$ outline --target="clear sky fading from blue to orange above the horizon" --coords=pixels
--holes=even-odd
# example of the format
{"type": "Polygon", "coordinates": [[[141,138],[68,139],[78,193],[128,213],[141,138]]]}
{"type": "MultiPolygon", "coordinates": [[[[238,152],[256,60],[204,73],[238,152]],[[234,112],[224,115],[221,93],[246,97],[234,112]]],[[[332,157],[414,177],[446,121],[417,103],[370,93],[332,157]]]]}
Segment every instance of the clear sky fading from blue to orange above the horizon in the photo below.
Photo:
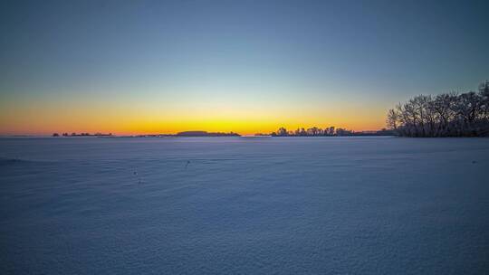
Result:
{"type": "Polygon", "coordinates": [[[2,1],[0,135],[385,128],[489,79],[489,1],[2,1]]]}

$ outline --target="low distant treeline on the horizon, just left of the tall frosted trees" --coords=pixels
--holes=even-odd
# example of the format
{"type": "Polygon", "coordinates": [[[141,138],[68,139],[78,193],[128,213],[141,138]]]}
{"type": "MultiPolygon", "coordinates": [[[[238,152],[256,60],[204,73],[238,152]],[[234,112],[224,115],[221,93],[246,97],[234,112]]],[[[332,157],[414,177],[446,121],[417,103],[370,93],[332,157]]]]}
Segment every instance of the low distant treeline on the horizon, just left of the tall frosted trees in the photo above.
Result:
{"type": "Polygon", "coordinates": [[[362,131],[355,132],[345,128],[297,128],[295,131],[289,131],[286,128],[279,128],[276,132],[270,134],[255,134],[255,136],[272,136],[272,137],[347,137],[347,136],[391,136],[393,132],[387,129],[379,131],[362,131]]]}

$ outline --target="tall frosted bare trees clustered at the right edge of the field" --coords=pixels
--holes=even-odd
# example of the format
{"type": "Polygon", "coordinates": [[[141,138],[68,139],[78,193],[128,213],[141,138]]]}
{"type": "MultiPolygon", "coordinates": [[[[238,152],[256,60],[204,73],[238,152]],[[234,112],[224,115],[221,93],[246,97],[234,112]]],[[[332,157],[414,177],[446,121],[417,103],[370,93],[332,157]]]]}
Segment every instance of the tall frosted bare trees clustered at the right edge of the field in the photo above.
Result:
{"type": "Polygon", "coordinates": [[[388,127],[402,137],[489,136],[489,81],[478,92],[419,95],[388,110],[388,127]]]}

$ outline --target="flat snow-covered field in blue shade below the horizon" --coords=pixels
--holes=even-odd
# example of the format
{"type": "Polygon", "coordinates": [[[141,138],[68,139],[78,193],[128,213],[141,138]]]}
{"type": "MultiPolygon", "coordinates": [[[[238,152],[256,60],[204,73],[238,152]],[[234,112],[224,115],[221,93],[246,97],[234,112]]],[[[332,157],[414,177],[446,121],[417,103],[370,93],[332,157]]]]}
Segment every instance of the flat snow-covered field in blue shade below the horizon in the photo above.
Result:
{"type": "Polygon", "coordinates": [[[1,274],[488,274],[489,139],[0,138],[1,274]]]}

